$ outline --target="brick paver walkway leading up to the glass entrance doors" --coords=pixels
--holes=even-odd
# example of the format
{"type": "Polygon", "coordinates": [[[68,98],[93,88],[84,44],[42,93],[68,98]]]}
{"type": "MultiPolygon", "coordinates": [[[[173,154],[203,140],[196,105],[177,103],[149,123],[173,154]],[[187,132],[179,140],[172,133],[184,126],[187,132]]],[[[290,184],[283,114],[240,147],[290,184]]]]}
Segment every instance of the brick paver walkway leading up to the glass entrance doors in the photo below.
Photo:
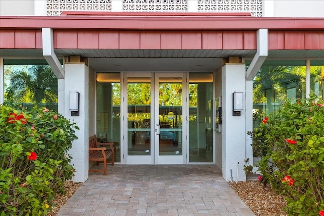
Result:
{"type": "Polygon", "coordinates": [[[57,215],[255,215],[215,165],[107,166],[57,215]]]}

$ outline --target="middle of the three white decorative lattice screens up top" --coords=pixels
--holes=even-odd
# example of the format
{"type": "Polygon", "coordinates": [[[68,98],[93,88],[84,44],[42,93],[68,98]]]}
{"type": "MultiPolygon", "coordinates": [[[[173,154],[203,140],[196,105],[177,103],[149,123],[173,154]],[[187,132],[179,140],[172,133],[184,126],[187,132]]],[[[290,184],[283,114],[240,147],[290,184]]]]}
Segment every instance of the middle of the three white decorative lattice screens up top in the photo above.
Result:
{"type": "Polygon", "coordinates": [[[123,0],[123,11],[187,12],[190,0],[123,0]]]}

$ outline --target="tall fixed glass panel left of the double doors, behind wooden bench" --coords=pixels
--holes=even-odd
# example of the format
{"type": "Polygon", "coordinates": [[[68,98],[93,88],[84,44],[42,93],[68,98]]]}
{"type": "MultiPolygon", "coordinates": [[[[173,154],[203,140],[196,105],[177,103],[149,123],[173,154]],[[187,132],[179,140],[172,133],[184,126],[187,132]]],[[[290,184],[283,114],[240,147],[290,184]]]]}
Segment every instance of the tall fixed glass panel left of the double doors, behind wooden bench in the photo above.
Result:
{"type": "Polygon", "coordinates": [[[114,142],[115,162],[120,162],[120,73],[97,74],[97,137],[114,142]]]}

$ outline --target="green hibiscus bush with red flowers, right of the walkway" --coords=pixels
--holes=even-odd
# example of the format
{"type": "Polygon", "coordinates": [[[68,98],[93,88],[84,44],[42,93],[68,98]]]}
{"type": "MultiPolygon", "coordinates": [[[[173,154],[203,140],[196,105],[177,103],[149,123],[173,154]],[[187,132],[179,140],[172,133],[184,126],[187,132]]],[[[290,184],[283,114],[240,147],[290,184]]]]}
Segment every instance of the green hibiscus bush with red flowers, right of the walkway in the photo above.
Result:
{"type": "Polygon", "coordinates": [[[282,193],[289,215],[324,215],[324,101],[286,102],[253,132],[262,181],[282,193]]]}

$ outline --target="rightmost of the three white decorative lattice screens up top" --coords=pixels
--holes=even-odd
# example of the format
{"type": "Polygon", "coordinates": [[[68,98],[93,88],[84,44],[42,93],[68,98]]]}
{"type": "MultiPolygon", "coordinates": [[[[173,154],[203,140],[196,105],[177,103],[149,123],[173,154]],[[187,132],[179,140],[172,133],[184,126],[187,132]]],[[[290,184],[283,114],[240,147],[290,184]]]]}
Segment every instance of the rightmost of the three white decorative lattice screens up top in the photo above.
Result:
{"type": "Polygon", "coordinates": [[[263,0],[198,0],[199,12],[250,12],[262,17],[263,0]]]}

